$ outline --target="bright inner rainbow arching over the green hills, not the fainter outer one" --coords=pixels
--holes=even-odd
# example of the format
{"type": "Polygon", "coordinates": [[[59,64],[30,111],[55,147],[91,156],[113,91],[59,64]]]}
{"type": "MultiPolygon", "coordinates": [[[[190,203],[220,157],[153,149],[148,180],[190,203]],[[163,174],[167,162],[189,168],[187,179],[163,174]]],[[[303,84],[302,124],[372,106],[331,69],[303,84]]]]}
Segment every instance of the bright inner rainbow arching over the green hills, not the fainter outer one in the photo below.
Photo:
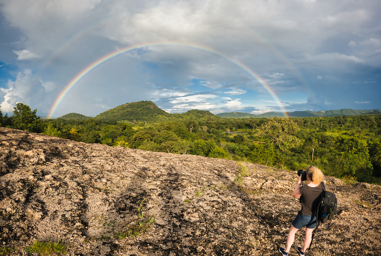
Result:
{"type": "Polygon", "coordinates": [[[54,112],[56,111],[58,105],[62,102],[62,100],[65,98],[66,94],[70,91],[71,88],[74,87],[74,85],[76,85],[85,75],[87,75],[91,70],[93,70],[94,68],[97,68],[99,65],[107,62],[108,60],[111,60],[123,53],[126,53],[128,51],[133,51],[133,50],[136,50],[136,49],[140,49],[140,48],[143,48],[143,47],[150,47],[150,46],[179,46],[179,47],[186,47],[186,48],[191,48],[191,49],[196,49],[196,50],[199,50],[199,51],[206,51],[206,52],[209,52],[209,53],[213,53],[213,54],[216,54],[216,55],[219,55],[227,60],[229,60],[230,62],[234,63],[235,65],[237,65],[238,67],[244,69],[249,75],[251,75],[252,77],[254,77],[261,85],[263,85],[263,87],[265,88],[265,90],[273,97],[274,101],[278,103],[278,105],[282,108],[282,112],[283,112],[283,115],[284,117],[288,117],[288,114],[287,114],[287,111],[284,109],[283,105],[282,105],[282,102],[279,100],[278,96],[275,94],[275,92],[272,90],[272,88],[265,82],[264,79],[262,79],[258,74],[256,74],[254,71],[252,71],[250,68],[248,68],[245,64],[239,62],[238,60],[235,60],[235,59],[232,59],[231,57],[219,52],[219,51],[216,51],[212,48],[209,48],[207,46],[203,46],[203,45],[199,45],[199,44],[182,44],[182,43],[177,43],[177,42],[155,42],[155,43],[149,43],[149,44],[136,44],[136,45],[133,45],[133,46],[128,46],[128,47],[125,47],[125,48],[122,48],[120,50],[117,50],[117,51],[113,51],[113,52],[110,52],[109,54],[107,55],[104,55],[103,57],[99,58],[98,60],[96,60],[95,62],[93,62],[92,64],[90,64],[89,66],[87,66],[86,68],[84,68],[80,73],[78,73],[66,86],[65,88],[60,92],[60,94],[58,95],[58,97],[55,99],[53,105],[50,107],[50,111],[49,111],[49,114],[48,114],[48,119],[50,119],[54,112]]]}

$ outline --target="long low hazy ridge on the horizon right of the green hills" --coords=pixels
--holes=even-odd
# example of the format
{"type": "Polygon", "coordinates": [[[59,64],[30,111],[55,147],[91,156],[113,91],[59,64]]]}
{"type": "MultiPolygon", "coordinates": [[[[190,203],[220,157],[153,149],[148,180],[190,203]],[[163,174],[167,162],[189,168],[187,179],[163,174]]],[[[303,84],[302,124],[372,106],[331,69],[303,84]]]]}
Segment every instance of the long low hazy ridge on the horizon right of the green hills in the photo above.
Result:
{"type": "MultiPolygon", "coordinates": [[[[289,117],[335,117],[335,116],[358,116],[358,115],[378,115],[381,114],[380,109],[365,109],[365,110],[354,110],[354,109],[339,109],[339,110],[327,110],[327,111],[295,111],[288,112],[289,117]]],[[[230,113],[220,113],[216,116],[221,118],[273,118],[273,117],[284,117],[282,112],[267,112],[260,115],[253,115],[242,112],[230,112],[230,113]]]]}

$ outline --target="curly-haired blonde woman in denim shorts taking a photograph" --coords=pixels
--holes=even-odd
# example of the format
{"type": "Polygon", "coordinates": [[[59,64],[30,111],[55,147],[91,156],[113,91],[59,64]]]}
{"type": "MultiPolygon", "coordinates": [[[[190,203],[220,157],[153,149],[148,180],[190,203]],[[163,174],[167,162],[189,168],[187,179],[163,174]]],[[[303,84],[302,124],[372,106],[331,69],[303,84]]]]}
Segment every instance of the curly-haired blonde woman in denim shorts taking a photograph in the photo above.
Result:
{"type": "Polygon", "coordinates": [[[292,196],[294,198],[300,197],[301,210],[299,211],[297,217],[292,222],[290,231],[287,236],[286,248],[279,248],[279,251],[283,256],[288,256],[291,246],[295,240],[295,234],[302,227],[306,227],[306,233],[304,236],[303,247],[298,247],[297,251],[299,256],[304,256],[305,251],[312,240],[312,232],[314,231],[316,225],[315,211],[318,205],[320,193],[323,191],[323,178],[324,174],[316,166],[309,166],[306,170],[307,173],[307,186],[301,186],[302,175],[300,174],[298,184],[295,186],[292,196]]]}

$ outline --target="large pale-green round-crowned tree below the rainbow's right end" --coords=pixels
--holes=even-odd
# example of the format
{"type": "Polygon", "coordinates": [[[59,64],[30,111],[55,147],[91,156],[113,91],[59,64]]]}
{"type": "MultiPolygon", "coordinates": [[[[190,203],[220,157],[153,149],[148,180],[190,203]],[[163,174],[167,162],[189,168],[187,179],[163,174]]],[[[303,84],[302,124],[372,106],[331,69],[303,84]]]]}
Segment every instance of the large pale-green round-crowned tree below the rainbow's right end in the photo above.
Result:
{"type": "Polygon", "coordinates": [[[273,118],[263,125],[265,135],[270,137],[271,143],[282,153],[299,143],[299,139],[295,136],[298,130],[298,124],[288,118],[273,118]]]}

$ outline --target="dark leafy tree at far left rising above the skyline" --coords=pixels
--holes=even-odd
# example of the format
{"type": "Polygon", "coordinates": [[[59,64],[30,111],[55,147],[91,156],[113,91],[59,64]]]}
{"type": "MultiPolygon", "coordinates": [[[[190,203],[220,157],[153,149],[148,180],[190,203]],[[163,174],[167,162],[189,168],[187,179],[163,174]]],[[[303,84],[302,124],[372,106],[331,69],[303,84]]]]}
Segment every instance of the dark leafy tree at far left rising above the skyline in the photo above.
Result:
{"type": "Polygon", "coordinates": [[[16,129],[28,132],[40,132],[41,118],[37,117],[37,109],[33,112],[28,105],[17,103],[13,111],[13,125],[16,129]]]}

